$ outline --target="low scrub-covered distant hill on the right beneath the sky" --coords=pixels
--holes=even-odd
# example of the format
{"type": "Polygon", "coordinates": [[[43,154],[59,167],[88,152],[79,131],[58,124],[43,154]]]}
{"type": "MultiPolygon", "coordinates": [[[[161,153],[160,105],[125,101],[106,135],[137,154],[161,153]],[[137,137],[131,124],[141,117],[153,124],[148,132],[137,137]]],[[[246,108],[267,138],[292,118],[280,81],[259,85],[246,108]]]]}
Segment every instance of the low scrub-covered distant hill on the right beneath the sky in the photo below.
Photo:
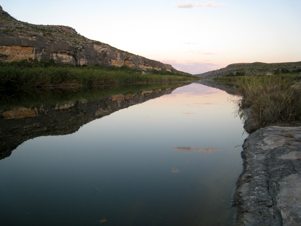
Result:
{"type": "Polygon", "coordinates": [[[268,75],[274,73],[288,73],[288,72],[300,72],[301,61],[299,62],[287,62],[287,63],[235,63],[229,64],[227,67],[223,67],[218,70],[205,72],[202,74],[196,74],[200,78],[215,78],[222,76],[234,76],[236,75],[268,75]]]}

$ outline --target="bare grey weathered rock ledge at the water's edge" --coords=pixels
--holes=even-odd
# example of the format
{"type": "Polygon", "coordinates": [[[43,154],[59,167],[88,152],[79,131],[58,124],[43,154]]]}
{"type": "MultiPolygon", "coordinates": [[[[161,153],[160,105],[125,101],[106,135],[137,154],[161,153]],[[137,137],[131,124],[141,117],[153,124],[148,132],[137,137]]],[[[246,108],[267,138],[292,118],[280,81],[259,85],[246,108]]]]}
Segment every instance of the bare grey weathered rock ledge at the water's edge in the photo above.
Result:
{"type": "Polygon", "coordinates": [[[232,195],[234,225],[301,225],[301,126],[270,126],[245,140],[232,195]]]}

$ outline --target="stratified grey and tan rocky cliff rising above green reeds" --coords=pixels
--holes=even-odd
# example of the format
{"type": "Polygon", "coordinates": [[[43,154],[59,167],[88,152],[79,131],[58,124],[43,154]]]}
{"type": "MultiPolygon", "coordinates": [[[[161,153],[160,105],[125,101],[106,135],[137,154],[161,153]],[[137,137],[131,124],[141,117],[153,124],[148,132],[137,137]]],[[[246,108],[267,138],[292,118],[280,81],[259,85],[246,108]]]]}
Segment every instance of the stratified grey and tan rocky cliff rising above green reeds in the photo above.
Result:
{"type": "MultiPolygon", "coordinates": [[[[0,6],[1,7],[1,6],[0,6]]],[[[0,61],[19,61],[29,57],[73,65],[123,65],[147,70],[178,72],[170,64],[118,50],[90,40],[67,26],[36,25],[18,21],[0,8],[0,61]]],[[[180,72],[181,73],[181,72],[180,72]]]]}

